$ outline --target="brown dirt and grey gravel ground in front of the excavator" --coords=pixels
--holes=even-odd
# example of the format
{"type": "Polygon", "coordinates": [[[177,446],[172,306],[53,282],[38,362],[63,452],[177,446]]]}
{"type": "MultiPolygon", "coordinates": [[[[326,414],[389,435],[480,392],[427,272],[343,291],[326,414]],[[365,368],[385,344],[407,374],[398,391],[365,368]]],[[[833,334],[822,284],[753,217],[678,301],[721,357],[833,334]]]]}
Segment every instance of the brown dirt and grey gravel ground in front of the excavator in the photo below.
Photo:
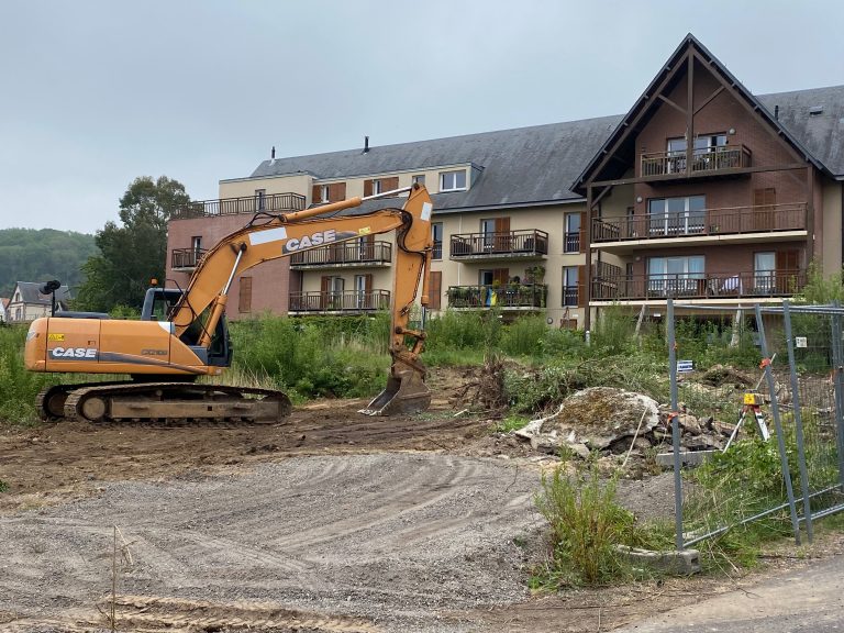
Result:
{"type": "MultiPolygon", "coordinates": [[[[608,631],[753,579],[531,596],[552,458],[455,415],[460,378],[404,420],[325,401],[265,426],[0,424],[0,630],[608,631]]],[[[671,511],[668,476],[620,493],[671,511]]]]}

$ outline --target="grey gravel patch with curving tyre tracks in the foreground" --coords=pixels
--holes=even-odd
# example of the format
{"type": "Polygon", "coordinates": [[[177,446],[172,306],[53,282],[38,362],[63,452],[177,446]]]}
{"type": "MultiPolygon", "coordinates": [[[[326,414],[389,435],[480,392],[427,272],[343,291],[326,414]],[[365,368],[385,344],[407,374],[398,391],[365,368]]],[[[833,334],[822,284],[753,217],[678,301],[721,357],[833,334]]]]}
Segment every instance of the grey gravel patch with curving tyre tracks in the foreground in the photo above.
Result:
{"type": "MultiPolygon", "coordinates": [[[[99,498],[36,518],[0,517],[0,533],[13,533],[16,566],[10,575],[0,569],[0,611],[34,615],[53,606],[60,614],[92,604],[110,585],[114,524],[134,558],[121,570],[126,593],[270,601],[302,613],[391,622],[387,630],[401,630],[397,622],[408,614],[519,599],[521,553],[512,538],[540,519],[531,501],[536,475],[515,473],[496,459],[376,453],[108,485],[99,498]]],[[[195,615],[203,623],[210,617],[195,615]]],[[[168,626],[182,625],[177,618],[168,626]]]]}

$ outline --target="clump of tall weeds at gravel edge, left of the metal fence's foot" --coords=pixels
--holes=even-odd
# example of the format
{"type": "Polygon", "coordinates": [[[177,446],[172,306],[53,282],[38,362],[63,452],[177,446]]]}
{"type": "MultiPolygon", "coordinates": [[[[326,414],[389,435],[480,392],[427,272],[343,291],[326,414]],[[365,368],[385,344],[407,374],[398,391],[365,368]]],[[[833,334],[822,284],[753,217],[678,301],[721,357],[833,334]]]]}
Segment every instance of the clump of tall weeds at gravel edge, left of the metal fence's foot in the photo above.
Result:
{"type": "Polygon", "coordinates": [[[643,524],[617,502],[617,479],[595,465],[568,473],[565,465],[543,475],[536,507],[551,525],[552,554],[534,570],[534,588],[610,585],[633,574],[619,546],[667,549],[670,529],[643,524]]]}

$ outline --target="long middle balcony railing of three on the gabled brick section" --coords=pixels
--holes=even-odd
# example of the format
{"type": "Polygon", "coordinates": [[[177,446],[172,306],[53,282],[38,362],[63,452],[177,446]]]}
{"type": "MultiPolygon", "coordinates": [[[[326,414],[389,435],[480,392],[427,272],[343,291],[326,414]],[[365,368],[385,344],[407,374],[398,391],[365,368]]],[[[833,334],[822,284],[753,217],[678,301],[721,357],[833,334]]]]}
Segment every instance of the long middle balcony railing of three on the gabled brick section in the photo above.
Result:
{"type": "Polygon", "coordinates": [[[795,202],[596,218],[592,220],[592,240],[595,242],[620,242],[690,235],[803,231],[806,227],[807,206],[804,202],[795,202]]]}

